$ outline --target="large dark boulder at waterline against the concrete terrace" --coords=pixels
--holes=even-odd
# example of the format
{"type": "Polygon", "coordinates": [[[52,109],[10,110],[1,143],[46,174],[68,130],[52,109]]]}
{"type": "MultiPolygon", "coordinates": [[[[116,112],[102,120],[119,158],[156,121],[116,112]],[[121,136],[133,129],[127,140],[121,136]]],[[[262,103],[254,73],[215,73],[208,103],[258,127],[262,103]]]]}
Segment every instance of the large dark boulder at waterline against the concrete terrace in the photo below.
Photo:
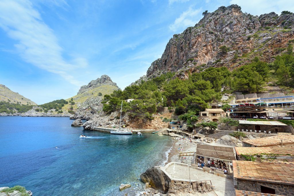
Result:
{"type": "Polygon", "coordinates": [[[148,168],[140,175],[140,178],[144,183],[149,183],[152,188],[159,192],[166,193],[168,191],[169,178],[159,166],[148,168]]]}

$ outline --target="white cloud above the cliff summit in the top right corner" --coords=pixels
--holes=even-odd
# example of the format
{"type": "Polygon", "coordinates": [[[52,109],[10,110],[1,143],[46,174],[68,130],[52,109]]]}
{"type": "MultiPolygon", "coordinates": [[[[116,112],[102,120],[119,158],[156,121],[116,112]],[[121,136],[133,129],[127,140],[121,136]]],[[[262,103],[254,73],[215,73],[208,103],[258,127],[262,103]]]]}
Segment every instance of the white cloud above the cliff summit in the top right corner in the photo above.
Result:
{"type": "Polygon", "coordinates": [[[230,4],[238,4],[241,6],[243,12],[250,13],[252,15],[260,15],[264,13],[275,12],[280,15],[281,11],[293,11],[294,1],[289,0],[231,0],[230,4]]]}

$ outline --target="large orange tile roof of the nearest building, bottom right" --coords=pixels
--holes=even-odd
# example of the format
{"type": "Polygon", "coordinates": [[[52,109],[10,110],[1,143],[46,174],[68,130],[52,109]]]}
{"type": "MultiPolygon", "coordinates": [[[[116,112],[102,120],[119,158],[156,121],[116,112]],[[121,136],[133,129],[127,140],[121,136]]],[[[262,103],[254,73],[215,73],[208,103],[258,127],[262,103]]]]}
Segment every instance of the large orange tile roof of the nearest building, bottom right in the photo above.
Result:
{"type": "Polygon", "coordinates": [[[233,160],[234,178],[294,185],[294,165],[233,160]]]}

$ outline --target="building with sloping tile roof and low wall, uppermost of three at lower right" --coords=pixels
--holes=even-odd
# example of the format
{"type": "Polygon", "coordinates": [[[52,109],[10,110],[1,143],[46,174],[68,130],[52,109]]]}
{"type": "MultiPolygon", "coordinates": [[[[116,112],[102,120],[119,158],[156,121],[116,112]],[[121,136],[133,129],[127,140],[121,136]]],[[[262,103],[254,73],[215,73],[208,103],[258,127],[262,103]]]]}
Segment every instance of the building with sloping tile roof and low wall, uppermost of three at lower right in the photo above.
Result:
{"type": "Polygon", "coordinates": [[[265,146],[294,146],[293,135],[276,135],[271,137],[264,137],[258,139],[251,139],[242,141],[243,147],[265,147],[265,146]]]}

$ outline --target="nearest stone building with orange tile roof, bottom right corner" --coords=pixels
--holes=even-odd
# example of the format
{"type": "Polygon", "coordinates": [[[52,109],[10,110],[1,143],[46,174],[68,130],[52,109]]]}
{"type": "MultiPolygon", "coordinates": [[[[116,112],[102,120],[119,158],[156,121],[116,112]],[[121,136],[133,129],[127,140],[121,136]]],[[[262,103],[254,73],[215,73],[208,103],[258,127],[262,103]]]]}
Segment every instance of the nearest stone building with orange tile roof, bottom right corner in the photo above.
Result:
{"type": "Polygon", "coordinates": [[[293,164],[233,160],[233,171],[238,190],[293,196],[293,164]]]}

